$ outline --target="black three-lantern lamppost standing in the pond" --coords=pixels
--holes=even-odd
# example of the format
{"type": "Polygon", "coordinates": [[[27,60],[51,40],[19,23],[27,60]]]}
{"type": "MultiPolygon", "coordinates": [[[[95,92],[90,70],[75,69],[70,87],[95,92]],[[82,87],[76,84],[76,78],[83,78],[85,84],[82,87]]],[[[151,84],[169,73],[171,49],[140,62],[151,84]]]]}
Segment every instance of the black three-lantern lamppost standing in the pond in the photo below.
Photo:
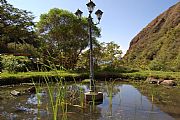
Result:
{"type": "MultiPolygon", "coordinates": [[[[95,99],[97,98],[97,100],[99,99],[99,96],[101,96],[103,98],[103,94],[100,92],[96,92],[95,91],[95,84],[94,84],[94,65],[93,65],[93,45],[92,45],[92,25],[97,25],[100,23],[101,17],[103,12],[101,10],[97,10],[95,12],[97,19],[98,19],[98,23],[94,24],[93,22],[93,18],[92,18],[92,12],[95,8],[95,3],[93,1],[90,0],[89,3],[86,4],[87,8],[89,10],[89,16],[88,16],[88,23],[89,23],[89,44],[90,44],[90,91],[88,93],[85,93],[85,97],[86,100],[92,100],[92,94],[93,96],[95,96],[95,99]]],[[[75,12],[75,15],[81,19],[83,12],[81,10],[77,10],[75,12]]]]}

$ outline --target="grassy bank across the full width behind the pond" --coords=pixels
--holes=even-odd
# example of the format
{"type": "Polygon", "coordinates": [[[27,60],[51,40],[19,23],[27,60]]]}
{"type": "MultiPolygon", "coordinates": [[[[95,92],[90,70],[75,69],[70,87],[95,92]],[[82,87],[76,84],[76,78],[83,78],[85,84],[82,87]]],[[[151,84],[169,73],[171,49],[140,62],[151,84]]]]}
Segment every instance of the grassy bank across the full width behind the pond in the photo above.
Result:
{"type": "MultiPolygon", "coordinates": [[[[63,77],[65,80],[83,80],[89,78],[88,73],[75,73],[69,71],[50,71],[50,72],[19,72],[1,73],[0,85],[16,84],[22,82],[32,82],[43,80],[43,77],[57,78],[63,77]]],[[[154,77],[159,79],[174,79],[180,81],[180,72],[162,72],[162,71],[139,71],[132,73],[115,73],[115,72],[96,72],[96,80],[108,80],[110,78],[122,78],[129,80],[145,80],[147,77],[154,77]]]]}

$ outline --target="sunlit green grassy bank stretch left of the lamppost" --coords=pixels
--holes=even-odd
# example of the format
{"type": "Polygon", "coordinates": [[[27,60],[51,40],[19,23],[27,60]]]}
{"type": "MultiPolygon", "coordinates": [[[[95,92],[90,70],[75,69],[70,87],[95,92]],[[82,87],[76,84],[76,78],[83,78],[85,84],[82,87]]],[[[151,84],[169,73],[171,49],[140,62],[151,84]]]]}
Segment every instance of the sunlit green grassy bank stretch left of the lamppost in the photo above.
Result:
{"type": "Polygon", "coordinates": [[[65,80],[78,80],[83,75],[72,73],[68,71],[49,71],[49,72],[19,72],[13,73],[1,73],[0,74],[0,86],[11,85],[19,83],[32,83],[32,82],[44,82],[44,78],[49,78],[51,81],[57,81],[57,78],[64,78],[65,80]]]}

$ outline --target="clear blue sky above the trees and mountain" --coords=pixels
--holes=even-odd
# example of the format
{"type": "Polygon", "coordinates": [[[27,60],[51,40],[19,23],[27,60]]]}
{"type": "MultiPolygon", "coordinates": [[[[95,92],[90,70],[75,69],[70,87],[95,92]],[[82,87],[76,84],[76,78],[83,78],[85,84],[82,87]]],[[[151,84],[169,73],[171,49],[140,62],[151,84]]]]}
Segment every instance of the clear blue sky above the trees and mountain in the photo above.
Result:
{"type": "MultiPolygon", "coordinates": [[[[78,8],[88,16],[86,4],[89,0],[7,0],[17,8],[33,12],[35,21],[51,8],[75,12],[78,8]]],[[[101,42],[114,41],[124,54],[129,43],[149,22],[179,0],[93,0],[97,9],[104,14],[98,27],[101,28],[101,42]]],[[[96,21],[96,16],[94,21],[96,21]]]]}

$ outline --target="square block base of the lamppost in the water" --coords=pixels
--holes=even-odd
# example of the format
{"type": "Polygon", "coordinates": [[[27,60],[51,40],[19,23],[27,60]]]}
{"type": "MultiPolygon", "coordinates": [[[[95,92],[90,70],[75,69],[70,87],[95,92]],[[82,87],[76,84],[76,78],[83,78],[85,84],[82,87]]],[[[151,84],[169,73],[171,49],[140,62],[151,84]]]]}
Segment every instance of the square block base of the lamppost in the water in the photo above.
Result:
{"type": "Polygon", "coordinates": [[[86,101],[103,101],[103,93],[102,92],[87,92],[84,94],[86,101]]]}

